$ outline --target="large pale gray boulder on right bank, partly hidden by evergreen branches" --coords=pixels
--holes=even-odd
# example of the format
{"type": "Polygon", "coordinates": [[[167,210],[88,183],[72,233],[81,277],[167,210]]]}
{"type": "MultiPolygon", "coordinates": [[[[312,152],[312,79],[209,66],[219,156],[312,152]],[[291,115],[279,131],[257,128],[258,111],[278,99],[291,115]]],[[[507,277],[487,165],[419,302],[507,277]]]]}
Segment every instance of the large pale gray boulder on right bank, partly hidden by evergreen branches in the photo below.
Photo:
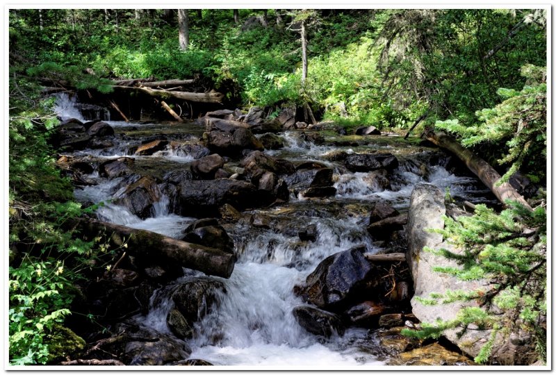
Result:
{"type": "MultiPolygon", "coordinates": [[[[444,194],[436,186],[428,183],[419,183],[411,193],[411,203],[407,222],[407,238],[409,250],[407,262],[414,280],[414,297],[411,307],[414,315],[421,322],[433,323],[436,319],[445,321],[455,319],[463,306],[477,306],[475,302],[448,303],[436,305],[423,305],[417,301],[418,297],[428,298],[432,292],[445,293],[448,290],[484,290],[484,283],[476,281],[459,281],[453,276],[434,272],[433,267],[457,267],[453,260],[423,251],[423,247],[433,249],[445,248],[452,252],[460,253],[452,245],[443,242],[442,235],[431,233],[429,229],[442,229],[444,227],[443,215],[445,214],[444,194]]],[[[459,337],[460,329],[450,329],[444,332],[448,340],[456,344],[468,356],[475,357],[484,343],[489,340],[491,330],[468,330],[459,337]]],[[[520,334],[521,335],[521,334],[520,334]]],[[[523,340],[526,343],[527,340],[523,340]]],[[[497,336],[491,355],[491,360],[501,365],[528,364],[530,363],[531,350],[525,349],[520,340],[509,340],[497,336]]],[[[534,360],[533,360],[534,361],[534,360]]]]}

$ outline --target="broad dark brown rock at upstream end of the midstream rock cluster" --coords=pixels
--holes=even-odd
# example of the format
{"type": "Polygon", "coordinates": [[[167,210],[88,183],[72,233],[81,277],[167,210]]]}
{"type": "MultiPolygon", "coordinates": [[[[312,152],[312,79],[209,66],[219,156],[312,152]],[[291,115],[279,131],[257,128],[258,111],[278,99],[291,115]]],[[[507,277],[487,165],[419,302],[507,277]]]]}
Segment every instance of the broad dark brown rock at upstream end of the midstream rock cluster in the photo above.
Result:
{"type": "Polygon", "coordinates": [[[234,128],[231,131],[204,133],[203,139],[211,151],[221,155],[235,156],[244,149],[263,150],[261,141],[249,129],[234,128]]]}

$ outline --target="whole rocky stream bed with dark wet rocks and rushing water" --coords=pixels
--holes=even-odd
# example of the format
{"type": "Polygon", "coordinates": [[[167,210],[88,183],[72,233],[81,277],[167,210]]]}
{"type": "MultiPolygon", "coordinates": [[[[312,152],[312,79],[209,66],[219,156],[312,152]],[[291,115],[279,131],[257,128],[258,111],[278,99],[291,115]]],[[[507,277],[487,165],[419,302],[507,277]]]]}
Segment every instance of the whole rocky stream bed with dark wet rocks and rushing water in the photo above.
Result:
{"type": "MultiPolygon", "coordinates": [[[[90,281],[75,306],[108,328],[74,322],[87,342],[81,360],[473,365],[445,340],[400,335],[420,323],[411,258],[369,260],[408,253],[410,235],[425,233],[411,213],[416,186],[441,206],[446,189],[454,207],[498,205],[443,151],[393,133],[341,135],[329,124],[296,126],[256,111],[126,123],[83,118],[67,97],[58,106],[58,165],[72,177],[76,199],[104,202],[94,218],[217,249],[233,268],[220,277],[157,249],[122,249],[127,255],[90,281]]],[[[442,213],[420,215],[431,212],[442,213]]]]}

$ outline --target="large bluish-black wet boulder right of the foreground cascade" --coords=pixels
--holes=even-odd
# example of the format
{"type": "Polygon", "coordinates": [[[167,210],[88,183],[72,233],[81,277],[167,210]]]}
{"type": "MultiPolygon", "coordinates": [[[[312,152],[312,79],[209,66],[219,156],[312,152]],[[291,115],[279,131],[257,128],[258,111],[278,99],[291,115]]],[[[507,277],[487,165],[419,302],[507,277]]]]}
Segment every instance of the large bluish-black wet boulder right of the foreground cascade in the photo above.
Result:
{"type": "Polygon", "coordinates": [[[302,297],[325,310],[342,310],[365,286],[367,279],[376,273],[363,252],[365,247],[335,253],[307,276],[302,286],[302,297]]]}

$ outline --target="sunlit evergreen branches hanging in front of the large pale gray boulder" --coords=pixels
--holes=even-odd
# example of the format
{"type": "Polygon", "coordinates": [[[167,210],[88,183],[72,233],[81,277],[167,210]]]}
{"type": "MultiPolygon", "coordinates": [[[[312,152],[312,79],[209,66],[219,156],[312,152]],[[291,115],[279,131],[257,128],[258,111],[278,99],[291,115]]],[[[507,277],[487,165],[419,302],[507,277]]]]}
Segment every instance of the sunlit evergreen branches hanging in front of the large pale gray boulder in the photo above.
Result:
{"type": "Polygon", "coordinates": [[[437,338],[445,329],[470,326],[493,329],[491,337],[475,358],[489,360],[496,334],[509,335],[524,329],[537,340],[539,357],[546,360],[546,210],[539,206],[530,211],[519,203],[497,214],[483,204],[475,215],[457,219],[445,217],[445,228],[438,232],[461,253],[448,249],[427,249],[455,260],[457,267],[436,267],[462,281],[486,281],[486,289],[450,290],[432,294],[421,303],[477,301],[478,306],[461,308],[450,321],[423,324],[421,331],[405,330],[417,338],[437,338]]]}

